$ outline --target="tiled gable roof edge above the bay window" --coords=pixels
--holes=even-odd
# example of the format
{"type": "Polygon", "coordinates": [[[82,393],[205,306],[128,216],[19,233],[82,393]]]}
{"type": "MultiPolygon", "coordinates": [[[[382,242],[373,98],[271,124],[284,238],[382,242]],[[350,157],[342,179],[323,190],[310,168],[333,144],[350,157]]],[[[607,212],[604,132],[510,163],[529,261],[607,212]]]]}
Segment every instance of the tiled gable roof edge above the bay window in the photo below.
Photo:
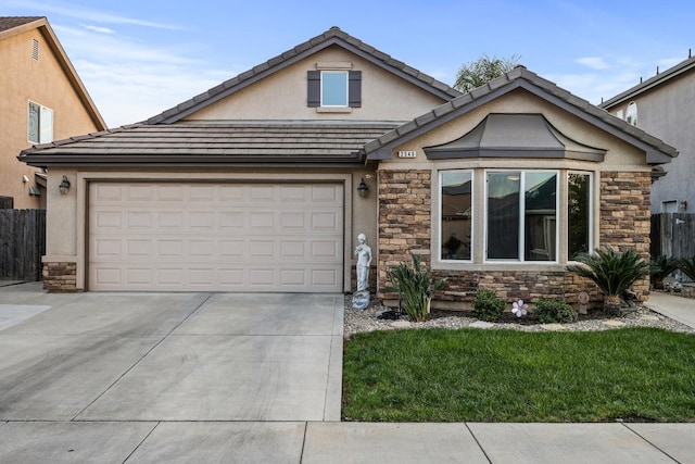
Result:
{"type": "Polygon", "coordinates": [[[646,161],[649,164],[668,163],[672,158],[678,156],[675,148],[591,104],[589,101],[573,96],[523,66],[517,66],[501,77],[471,90],[469,93],[457,97],[397,129],[384,134],[365,146],[365,154],[368,160],[390,160],[392,159],[392,150],[396,147],[518,88],[522,88],[593,124],[597,128],[644,150],[646,152],[646,161]]]}

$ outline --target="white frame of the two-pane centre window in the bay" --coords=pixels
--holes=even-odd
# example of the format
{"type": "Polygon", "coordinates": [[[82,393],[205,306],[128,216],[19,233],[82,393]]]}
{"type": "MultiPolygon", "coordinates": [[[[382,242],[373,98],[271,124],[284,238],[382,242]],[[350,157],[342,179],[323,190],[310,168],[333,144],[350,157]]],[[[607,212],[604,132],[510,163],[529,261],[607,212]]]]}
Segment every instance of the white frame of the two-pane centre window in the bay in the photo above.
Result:
{"type": "Polygon", "coordinates": [[[559,209],[559,198],[561,197],[561,189],[559,188],[560,181],[560,171],[559,170],[522,170],[522,168],[494,168],[494,170],[484,170],[484,188],[483,188],[483,264],[530,264],[533,266],[538,265],[554,265],[559,264],[560,256],[560,209],[559,209]],[[488,174],[490,173],[508,173],[508,172],[518,172],[520,175],[519,179],[519,236],[517,237],[517,251],[519,253],[519,258],[516,260],[508,259],[500,259],[500,260],[491,260],[488,258],[488,174]],[[523,200],[523,192],[526,191],[526,173],[555,173],[555,260],[553,261],[526,261],[525,260],[525,250],[523,250],[523,233],[526,230],[526,202],[523,200]]]}

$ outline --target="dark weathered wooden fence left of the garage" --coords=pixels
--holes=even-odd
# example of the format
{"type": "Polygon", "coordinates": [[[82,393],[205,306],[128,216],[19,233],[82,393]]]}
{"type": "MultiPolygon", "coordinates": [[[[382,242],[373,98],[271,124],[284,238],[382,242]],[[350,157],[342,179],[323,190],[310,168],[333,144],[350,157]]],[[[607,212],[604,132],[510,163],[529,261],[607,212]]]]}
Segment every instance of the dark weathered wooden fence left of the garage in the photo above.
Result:
{"type": "Polygon", "coordinates": [[[0,210],[0,279],[41,279],[46,210],[0,210]]]}

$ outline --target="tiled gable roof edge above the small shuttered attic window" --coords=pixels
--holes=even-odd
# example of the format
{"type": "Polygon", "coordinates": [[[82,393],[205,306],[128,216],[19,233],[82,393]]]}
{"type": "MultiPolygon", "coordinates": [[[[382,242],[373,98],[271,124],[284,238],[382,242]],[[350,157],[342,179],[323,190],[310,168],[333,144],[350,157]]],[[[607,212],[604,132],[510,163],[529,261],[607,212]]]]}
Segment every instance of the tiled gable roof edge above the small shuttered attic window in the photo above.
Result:
{"type": "Polygon", "coordinates": [[[435,78],[410,67],[402,61],[395,60],[390,55],[377,50],[376,48],[364,43],[362,40],[352,37],[342,32],[339,27],[331,27],[324,34],[320,34],[304,43],[292,48],[270,60],[262,63],[245,73],[225,80],[211,88],[210,90],[193,97],[169,110],[164,111],[153,117],[147,120],[148,124],[170,124],[180,121],[210,104],[215,103],[230,95],[267,77],[268,75],[283,70],[298,61],[305,59],[320,50],[331,46],[339,46],[345,50],[367,60],[368,62],[386,70],[396,76],[409,81],[410,84],[440,97],[444,100],[451,100],[462,95],[458,90],[447,86],[435,78]]]}

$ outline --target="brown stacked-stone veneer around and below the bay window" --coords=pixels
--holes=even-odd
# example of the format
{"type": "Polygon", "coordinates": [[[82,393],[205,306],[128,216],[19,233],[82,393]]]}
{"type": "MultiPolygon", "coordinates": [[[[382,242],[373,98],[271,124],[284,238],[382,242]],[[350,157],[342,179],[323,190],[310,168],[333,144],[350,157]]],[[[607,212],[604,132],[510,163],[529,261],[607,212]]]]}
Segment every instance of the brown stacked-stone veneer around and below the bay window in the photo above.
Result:
{"type": "MultiPolygon", "coordinates": [[[[633,249],[649,259],[649,173],[606,172],[601,175],[601,243],[620,251],[633,249]]],[[[410,251],[430,263],[431,172],[382,171],[379,173],[379,297],[394,300],[383,290],[387,268],[409,262],[410,251]]],[[[489,288],[511,302],[535,302],[540,297],[565,298],[577,303],[579,291],[587,291],[598,304],[603,297],[589,280],[573,274],[533,271],[455,272],[433,271],[433,277],[446,277],[445,287],[435,294],[435,303],[468,303],[478,288],[489,288]]],[[[637,281],[634,291],[643,299],[648,279],[637,281]]]]}

